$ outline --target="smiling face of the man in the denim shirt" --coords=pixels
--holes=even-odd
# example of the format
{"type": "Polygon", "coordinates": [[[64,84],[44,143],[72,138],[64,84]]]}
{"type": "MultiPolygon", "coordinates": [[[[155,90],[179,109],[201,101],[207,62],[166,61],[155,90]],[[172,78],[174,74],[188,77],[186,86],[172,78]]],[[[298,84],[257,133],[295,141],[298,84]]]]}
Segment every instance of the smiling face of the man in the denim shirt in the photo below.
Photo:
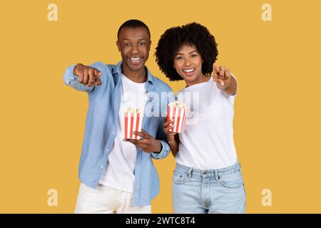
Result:
{"type": "Polygon", "coordinates": [[[151,49],[151,38],[146,28],[121,28],[117,41],[123,68],[140,71],[145,67],[151,49]]]}

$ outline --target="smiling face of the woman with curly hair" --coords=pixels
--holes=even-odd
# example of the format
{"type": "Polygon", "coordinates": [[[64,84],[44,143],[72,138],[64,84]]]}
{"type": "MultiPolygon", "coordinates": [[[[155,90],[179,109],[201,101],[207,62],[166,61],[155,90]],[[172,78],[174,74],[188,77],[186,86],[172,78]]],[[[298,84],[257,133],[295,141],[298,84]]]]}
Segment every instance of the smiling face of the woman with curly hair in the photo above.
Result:
{"type": "Polygon", "coordinates": [[[174,68],[188,86],[206,81],[202,73],[203,59],[193,45],[184,44],[174,56],[174,68]]]}

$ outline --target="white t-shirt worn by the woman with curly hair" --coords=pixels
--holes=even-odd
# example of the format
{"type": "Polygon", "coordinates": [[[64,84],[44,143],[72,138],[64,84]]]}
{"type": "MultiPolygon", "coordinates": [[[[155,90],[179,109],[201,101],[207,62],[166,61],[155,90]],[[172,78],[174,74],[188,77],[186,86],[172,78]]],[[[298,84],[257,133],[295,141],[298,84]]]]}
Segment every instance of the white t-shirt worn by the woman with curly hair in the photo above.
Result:
{"type": "Polygon", "coordinates": [[[178,134],[178,164],[213,170],[238,161],[233,140],[235,95],[226,95],[212,77],[178,92],[178,100],[190,108],[185,132],[178,134]]]}

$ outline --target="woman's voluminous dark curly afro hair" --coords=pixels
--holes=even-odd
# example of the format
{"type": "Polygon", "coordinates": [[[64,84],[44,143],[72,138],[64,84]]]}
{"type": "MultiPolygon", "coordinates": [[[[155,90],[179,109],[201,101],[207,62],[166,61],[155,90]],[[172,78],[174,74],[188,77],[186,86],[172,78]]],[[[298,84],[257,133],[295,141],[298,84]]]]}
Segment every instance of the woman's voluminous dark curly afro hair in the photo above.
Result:
{"type": "Polygon", "coordinates": [[[178,49],[183,45],[193,45],[203,58],[202,73],[210,75],[213,71],[213,63],[218,56],[218,43],[208,28],[201,24],[191,23],[184,26],[168,28],[156,47],[156,63],[160,70],[170,81],[183,80],[173,67],[174,57],[178,49]]]}

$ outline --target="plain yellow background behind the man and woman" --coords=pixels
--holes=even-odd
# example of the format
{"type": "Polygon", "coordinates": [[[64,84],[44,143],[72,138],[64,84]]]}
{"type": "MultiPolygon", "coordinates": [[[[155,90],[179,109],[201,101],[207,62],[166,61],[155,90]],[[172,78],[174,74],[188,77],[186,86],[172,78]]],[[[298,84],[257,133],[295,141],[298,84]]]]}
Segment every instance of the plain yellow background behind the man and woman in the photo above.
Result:
{"type": "MultiPolygon", "coordinates": [[[[73,213],[88,99],[62,81],[67,66],[117,63],[118,27],[141,19],[151,29],[147,62],[166,28],[197,21],[219,43],[218,64],[239,82],[235,146],[248,213],[321,212],[320,10],[307,1],[1,1],[0,212],[73,213]],[[47,6],[58,6],[48,21],[47,6]],[[263,21],[261,6],[272,6],[263,21]],[[49,207],[47,191],[58,191],[49,207]],[[263,207],[263,189],[272,207],[263,207]]],[[[169,83],[177,92],[180,83],[169,83]]],[[[210,148],[209,148],[210,150],[210,148]]],[[[161,194],[153,213],[171,213],[170,155],[155,161],[161,194]]]]}

